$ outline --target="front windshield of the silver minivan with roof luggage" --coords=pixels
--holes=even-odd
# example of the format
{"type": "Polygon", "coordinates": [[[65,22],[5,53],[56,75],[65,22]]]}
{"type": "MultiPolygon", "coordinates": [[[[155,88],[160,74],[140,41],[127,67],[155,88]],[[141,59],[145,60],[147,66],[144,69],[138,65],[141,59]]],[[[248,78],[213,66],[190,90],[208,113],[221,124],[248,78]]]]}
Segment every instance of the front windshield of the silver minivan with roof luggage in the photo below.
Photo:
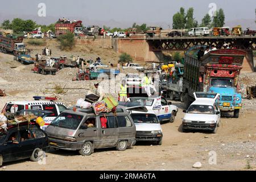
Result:
{"type": "Polygon", "coordinates": [[[51,122],[51,126],[64,127],[76,130],[82,121],[83,116],[77,114],[61,113],[51,122]]]}

